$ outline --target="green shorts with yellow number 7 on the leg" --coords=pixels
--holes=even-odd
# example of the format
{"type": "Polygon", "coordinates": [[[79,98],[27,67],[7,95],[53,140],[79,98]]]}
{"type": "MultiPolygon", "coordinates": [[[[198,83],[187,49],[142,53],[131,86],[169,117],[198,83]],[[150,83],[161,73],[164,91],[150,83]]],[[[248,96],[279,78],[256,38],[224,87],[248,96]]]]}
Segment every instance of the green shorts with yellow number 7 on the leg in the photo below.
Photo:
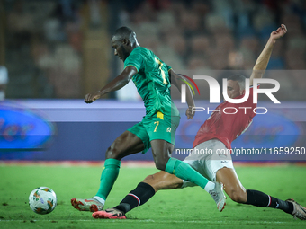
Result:
{"type": "Polygon", "coordinates": [[[166,116],[157,112],[153,116],[143,117],[141,122],[129,128],[128,131],[142,140],[145,145],[142,154],[145,154],[151,147],[150,141],[152,140],[165,140],[175,145],[175,131],[180,119],[179,116],[166,116]]]}

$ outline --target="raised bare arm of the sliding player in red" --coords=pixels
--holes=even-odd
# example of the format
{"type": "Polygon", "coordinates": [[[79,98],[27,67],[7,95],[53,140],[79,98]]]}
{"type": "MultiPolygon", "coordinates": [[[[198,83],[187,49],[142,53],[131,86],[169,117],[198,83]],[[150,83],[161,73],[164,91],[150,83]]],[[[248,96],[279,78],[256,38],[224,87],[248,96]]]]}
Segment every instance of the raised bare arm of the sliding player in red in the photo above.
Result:
{"type": "Polygon", "coordinates": [[[250,77],[250,85],[253,85],[253,80],[255,78],[262,78],[265,71],[266,66],[269,63],[269,59],[271,57],[271,53],[273,50],[273,47],[275,46],[276,40],[283,37],[284,34],[287,32],[287,28],[284,24],[281,25],[276,31],[272,31],[270,34],[269,40],[266,42],[266,46],[257,58],[257,62],[255,66],[253,67],[253,72],[250,77]]]}

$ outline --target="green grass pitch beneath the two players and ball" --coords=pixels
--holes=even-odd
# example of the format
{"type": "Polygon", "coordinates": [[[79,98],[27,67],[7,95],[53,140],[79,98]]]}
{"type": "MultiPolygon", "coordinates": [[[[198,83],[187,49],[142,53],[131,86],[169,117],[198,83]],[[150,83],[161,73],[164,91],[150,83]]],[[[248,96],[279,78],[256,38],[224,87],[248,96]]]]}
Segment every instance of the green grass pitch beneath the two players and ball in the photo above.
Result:
{"type": "MultiPolygon", "coordinates": [[[[294,198],[306,206],[306,166],[237,166],[246,189],[276,198],[294,198]]],[[[99,185],[102,166],[0,165],[0,228],[306,228],[281,210],[233,202],[219,212],[199,187],[159,191],[146,205],[128,213],[127,220],[94,219],[79,212],[70,198],[91,198],[99,185]],[[28,205],[29,194],[48,186],[58,196],[49,215],[37,215],[28,205]]],[[[105,207],[113,207],[155,168],[122,167],[105,207]]]]}

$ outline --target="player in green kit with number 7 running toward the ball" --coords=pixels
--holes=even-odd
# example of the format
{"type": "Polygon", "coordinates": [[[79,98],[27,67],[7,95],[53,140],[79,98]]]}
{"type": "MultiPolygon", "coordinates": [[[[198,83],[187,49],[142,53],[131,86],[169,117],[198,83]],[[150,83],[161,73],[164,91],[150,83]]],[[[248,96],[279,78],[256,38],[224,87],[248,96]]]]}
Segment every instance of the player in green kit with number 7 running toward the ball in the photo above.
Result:
{"type": "MultiPolygon", "coordinates": [[[[199,172],[193,170],[189,164],[171,157],[175,145],[175,130],[179,124],[180,116],[171,100],[170,84],[174,84],[180,90],[180,85],[183,84],[179,80],[181,76],[176,75],[171,67],[167,66],[152,51],[140,47],[136,33],[127,27],[121,27],[114,32],[112,48],[114,48],[114,55],[124,62],[124,70],[100,91],[86,94],[85,102],[91,103],[105,93],[119,90],[132,79],[144,101],[146,116],[141,122],[117,137],[107,149],[100,189],[94,198],[72,198],[72,206],[83,211],[101,211],[112,185],[118,177],[121,158],[139,152],[146,153],[151,147],[158,170],[175,174],[178,178],[199,185],[211,194],[221,211],[225,206],[226,199],[223,185],[207,180],[199,172]]],[[[194,101],[189,90],[186,93],[186,101],[189,106],[186,111],[187,119],[193,119],[194,101]]],[[[141,183],[141,185],[148,184],[141,183]]],[[[140,193],[141,187],[139,195],[140,193]]],[[[138,193],[133,195],[134,198],[138,198],[138,193]]],[[[142,199],[143,202],[146,202],[145,197],[142,199]]],[[[141,205],[141,203],[139,204],[141,205]]]]}

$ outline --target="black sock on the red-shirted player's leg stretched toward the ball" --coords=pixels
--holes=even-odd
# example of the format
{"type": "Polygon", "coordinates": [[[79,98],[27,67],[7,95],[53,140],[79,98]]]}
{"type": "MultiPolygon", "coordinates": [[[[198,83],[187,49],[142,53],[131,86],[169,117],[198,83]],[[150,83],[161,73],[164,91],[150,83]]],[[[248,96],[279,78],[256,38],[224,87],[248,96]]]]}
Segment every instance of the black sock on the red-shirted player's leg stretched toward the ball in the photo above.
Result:
{"type": "Polygon", "coordinates": [[[147,183],[140,182],[136,189],[130,191],[130,193],[122,199],[120,205],[114,207],[124,213],[129,212],[131,209],[143,205],[152,198],[155,194],[155,190],[147,183]]]}

